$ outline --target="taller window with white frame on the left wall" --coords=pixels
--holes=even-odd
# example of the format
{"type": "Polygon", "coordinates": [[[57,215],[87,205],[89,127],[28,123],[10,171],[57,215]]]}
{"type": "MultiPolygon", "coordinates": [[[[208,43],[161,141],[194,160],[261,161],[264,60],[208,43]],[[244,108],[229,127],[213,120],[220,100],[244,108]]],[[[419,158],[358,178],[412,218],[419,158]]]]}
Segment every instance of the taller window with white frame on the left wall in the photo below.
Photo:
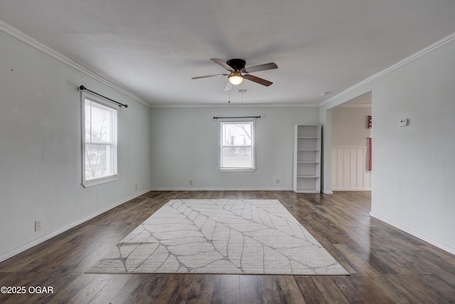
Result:
{"type": "Polygon", "coordinates": [[[82,93],[82,184],[95,186],[118,179],[117,107],[82,93]]]}

